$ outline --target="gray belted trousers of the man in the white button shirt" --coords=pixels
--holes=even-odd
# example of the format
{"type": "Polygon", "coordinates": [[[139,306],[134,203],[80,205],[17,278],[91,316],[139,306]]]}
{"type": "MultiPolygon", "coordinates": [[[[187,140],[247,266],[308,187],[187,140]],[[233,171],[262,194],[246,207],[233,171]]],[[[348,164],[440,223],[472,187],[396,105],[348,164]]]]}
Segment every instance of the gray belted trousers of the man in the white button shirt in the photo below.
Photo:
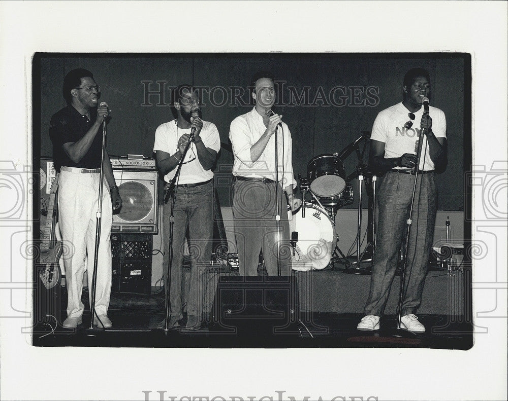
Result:
{"type": "Polygon", "coordinates": [[[266,271],[277,275],[277,244],[280,253],[280,275],[291,274],[291,245],[288,202],[280,188],[280,241],[277,241],[276,185],[253,181],[233,184],[233,216],[241,276],[257,276],[259,252],[263,250],[266,271]]]}

